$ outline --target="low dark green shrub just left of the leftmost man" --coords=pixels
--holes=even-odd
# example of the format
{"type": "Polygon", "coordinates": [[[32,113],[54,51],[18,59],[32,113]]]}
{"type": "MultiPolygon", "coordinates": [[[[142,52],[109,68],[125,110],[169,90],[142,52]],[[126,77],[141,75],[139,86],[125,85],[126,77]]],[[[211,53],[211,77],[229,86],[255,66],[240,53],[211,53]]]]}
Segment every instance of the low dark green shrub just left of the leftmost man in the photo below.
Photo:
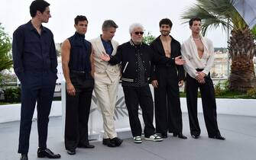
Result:
{"type": "Polygon", "coordinates": [[[21,101],[21,88],[6,88],[5,89],[6,102],[20,102],[21,101]]]}

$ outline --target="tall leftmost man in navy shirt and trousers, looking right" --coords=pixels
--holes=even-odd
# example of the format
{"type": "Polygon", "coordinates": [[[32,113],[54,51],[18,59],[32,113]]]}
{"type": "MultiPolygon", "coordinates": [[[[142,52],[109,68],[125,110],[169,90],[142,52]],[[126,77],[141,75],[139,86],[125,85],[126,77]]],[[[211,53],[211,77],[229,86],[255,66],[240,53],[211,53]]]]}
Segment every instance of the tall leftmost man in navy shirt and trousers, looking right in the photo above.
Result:
{"type": "Polygon", "coordinates": [[[15,30],[12,56],[15,73],[21,81],[21,126],[18,153],[28,160],[31,123],[37,103],[39,148],[37,157],[60,158],[47,149],[47,129],[53,92],[57,79],[57,54],[52,32],[42,25],[49,21],[49,3],[31,3],[31,21],[15,30]]]}

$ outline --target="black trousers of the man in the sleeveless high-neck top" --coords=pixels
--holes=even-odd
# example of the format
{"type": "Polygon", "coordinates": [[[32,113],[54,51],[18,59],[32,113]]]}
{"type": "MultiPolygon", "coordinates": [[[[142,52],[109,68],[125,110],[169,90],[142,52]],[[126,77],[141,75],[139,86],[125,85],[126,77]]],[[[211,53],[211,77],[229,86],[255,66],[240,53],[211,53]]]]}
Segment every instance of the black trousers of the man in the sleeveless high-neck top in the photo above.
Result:
{"type": "Polygon", "coordinates": [[[66,92],[65,148],[76,149],[78,145],[89,144],[88,120],[94,81],[91,75],[79,72],[70,72],[70,79],[76,95],[66,92]]]}

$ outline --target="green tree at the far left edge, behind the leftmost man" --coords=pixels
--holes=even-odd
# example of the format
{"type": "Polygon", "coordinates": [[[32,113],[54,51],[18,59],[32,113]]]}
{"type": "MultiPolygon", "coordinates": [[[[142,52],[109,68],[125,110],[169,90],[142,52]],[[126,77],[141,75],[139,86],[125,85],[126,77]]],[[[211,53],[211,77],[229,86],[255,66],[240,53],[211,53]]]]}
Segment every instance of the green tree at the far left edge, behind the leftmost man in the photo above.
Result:
{"type": "Polygon", "coordinates": [[[0,72],[4,69],[10,69],[11,60],[11,37],[5,33],[5,28],[0,23],[0,72]]]}

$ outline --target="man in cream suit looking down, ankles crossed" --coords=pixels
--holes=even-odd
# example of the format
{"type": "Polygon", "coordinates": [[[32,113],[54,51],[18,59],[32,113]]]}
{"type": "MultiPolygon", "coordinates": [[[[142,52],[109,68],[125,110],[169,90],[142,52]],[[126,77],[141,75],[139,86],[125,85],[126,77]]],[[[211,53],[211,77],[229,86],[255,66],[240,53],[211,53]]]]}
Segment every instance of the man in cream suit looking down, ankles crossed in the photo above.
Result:
{"type": "Polygon", "coordinates": [[[115,132],[114,110],[118,93],[118,83],[120,79],[120,66],[111,66],[109,62],[104,62],[99,56],[103,53],[113,56],[116,53],[118,42],[112,40],[118,25],[112,20],[106,20],[102,24],[102,34],[91,40],[94,48],[95,62],[95,87],[94,91],[98,99],[99,107],[102,110],[103,118],[103,141],[102,144],[109,147],[120,146],[122,139],[117,137],[115,132]]]}

